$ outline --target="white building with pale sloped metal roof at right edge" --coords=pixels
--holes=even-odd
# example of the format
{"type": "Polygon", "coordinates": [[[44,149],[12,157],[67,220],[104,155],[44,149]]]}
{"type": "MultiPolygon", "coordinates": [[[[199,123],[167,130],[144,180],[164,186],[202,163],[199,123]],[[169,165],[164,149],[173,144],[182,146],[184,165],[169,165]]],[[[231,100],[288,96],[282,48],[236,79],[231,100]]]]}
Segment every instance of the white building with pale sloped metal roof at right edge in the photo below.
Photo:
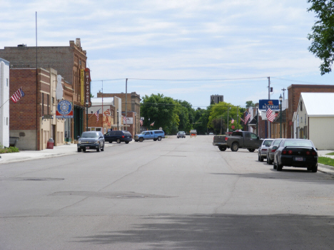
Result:
{"type": "Polygon", "coordinates": [[[300,93],[294,137],[312,140],[318,150],[334,150],[333,107],[334,93],[300,93]]]}

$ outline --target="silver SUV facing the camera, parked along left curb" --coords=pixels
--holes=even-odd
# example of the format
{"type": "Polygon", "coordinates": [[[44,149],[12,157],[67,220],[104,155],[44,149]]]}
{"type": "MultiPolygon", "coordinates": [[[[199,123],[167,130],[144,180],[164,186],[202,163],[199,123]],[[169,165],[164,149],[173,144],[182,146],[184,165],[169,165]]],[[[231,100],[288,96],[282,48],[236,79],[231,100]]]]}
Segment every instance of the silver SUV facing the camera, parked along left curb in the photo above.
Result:
{"type": "Polygon", "coordinates": [[[78,136],[77,144],[78,152],[86,152],[86,150],[96,150],[96,152],[104,151],[104,137],[99,131],[86,131],[78,136]]]}

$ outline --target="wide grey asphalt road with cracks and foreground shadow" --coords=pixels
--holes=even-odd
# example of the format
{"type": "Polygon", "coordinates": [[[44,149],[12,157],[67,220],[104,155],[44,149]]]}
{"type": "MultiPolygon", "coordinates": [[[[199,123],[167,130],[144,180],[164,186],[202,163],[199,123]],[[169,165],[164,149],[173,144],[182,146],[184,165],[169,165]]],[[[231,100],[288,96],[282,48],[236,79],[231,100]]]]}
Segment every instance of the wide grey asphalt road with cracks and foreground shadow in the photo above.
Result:
{"type": "Polygon", "coordinates": [[[334,249],[334,177],[212,136],[0,165],[0,249],[334,249]]]}

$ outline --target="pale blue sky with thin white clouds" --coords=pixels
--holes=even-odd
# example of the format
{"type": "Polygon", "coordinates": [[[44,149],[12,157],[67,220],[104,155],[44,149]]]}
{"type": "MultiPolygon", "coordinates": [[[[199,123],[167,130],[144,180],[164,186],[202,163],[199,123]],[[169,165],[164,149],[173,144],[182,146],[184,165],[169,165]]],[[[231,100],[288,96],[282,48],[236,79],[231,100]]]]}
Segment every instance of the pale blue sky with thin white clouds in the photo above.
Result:
{"type": "MultiPolygon", "coordinates": [[[[81,38],[96,93],[163,94],[206,108],[244,107],[291,84],[333,84],[308,51],[307,0],[0,0],[0,49],[69,46],[81,38]],[[36,15],[37,13],[37,15],[36,15]],[[128,78],[126,89],[126,78],[128,78]]],[[[66,79],[65,79],[66,80],[66,79]]]]}

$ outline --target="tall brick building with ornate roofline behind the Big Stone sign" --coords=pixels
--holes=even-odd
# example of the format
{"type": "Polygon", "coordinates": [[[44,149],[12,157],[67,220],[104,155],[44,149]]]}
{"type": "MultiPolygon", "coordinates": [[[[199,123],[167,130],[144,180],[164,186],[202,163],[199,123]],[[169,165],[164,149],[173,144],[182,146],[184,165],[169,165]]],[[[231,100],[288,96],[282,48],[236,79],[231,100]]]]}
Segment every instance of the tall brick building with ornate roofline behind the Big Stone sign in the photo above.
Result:
{"type": "Polygon", "coordinates": [[[66,80],[68,86],[71,86],[69,88],[73,90],[74,119],[67,126],[72,129],[70,133],[66,133],[67,140],[74,140],[78,135],[81,135],[86,120],[84,118],[86,106],[83,101],[83,90],[81,93],[81,69],[86,68],[87,56],[86,51],[81,48],[80,38],[76,38],[76,42],[69,41],[69,46],[36,48],[19,45],[17,47],[4,47],[4,49],[0,49],[0,58],[9,61],[12,69],[54,68],[66,80]]]}

